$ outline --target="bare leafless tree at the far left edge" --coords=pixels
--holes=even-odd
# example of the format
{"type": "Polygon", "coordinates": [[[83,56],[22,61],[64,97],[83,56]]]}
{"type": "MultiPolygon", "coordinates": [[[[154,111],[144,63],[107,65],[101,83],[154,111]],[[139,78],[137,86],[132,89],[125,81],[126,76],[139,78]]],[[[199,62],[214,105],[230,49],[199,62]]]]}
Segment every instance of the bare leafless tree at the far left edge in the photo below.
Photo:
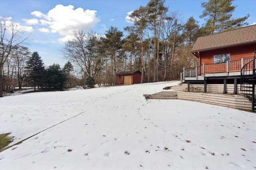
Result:
{"type": "Polygon", "coordinates": [[[20,30],[18,25],[15,25],[11,18],[0,17],[0,97],[3,97],[3,67],[11,54],[11,51],[18,45],[21,45],[28,39],[20,30]]]}

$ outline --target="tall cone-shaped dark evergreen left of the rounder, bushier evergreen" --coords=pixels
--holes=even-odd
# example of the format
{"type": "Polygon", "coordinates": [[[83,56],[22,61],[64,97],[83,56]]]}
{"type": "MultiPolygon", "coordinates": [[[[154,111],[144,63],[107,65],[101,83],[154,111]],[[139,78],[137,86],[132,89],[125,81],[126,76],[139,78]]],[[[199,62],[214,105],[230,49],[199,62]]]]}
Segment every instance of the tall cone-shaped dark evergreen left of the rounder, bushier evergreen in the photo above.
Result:
{"type": "Polygon", "coordinates": [[[32,54],[32,57],[30,57],[26,63],[28,72],[27,79],[33,84],[34,91],[36,91],[36,86],[39,87],[42,84],[44,63],[37,51],[32,54]]]}

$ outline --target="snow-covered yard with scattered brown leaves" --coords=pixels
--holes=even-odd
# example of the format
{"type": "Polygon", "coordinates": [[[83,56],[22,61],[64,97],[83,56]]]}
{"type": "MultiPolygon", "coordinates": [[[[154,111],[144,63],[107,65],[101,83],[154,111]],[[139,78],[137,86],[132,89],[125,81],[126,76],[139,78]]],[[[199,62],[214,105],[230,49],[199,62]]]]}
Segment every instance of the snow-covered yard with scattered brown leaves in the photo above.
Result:
{"type": "Polygon", "coordinates": [[[0,98],[0,169],[255,170],[256,114],[143,97],[178,83],[0,98]]]}

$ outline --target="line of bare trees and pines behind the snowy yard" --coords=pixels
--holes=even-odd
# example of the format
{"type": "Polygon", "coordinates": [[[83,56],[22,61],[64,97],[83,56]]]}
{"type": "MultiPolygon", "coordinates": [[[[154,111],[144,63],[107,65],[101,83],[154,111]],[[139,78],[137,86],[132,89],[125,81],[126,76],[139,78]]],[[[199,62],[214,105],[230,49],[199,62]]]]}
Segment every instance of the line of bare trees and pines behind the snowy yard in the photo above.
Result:
{"type": "MultiPolygon", "coordinates": [[[[53,64],[48,66],[44,74],[60,71],[66,75],[64,79],[66,77],[68,80],[63,84],[56,82],[56,87],[62,88],[76,85],[86,87],[88,78],[94,84],[113,85],[116,84],[117,72],[131,70],[142,72],[142,83],[178,80],[183,67],[198,65],[198,59],[190,53],[197,37],[248,25],[245,21],[249,14],[243,18],[231,18],[236,8],[232,6],[232,1],[203,2],[201,6],[204,11],[200,18],[204,18],[206,23],[200,27],[193,17],[184,23],[178,11],[168,10],[164,4],[165,0],[150,0],[146,6],[140,6],[129,15],[132,26],[124,27],[123,31],[113,26],[104,35],[99,35],[93,30],[74,31],[72,38],[66,41],[62,49],[63,58],[68,61],[66,64],[72,65],[72,70],[65,70],[68,69],[65,68],[66,64],[65,69],[61,69],[59,64],[53,64]]],[[[51,80],[47,80],[50,76],[42,76],[43,82],[28,78],[31,76],[28,74],[31,64],[26,60],[31,59],[28,57],[31,54],[27,47],[21,46],[27,37],[16,30],[14,25],[7,25],[4,21],[6,20],[1,18],[1,91],[17,84],[21,88],[24,80],[30,82],[24,85],[34,82],[34,87],[52,87],[50,81],[61,82],[62,78],[54,76],[51,80]],[[4,32],[6,28],[16,33],[12,39],[8,39],[9,41],[6,40],[4,32]]],[[[36,55],[35,52],[33,55],[36,55]]],[[[38,75],[40,74],[38,72],[38,75]]]]}

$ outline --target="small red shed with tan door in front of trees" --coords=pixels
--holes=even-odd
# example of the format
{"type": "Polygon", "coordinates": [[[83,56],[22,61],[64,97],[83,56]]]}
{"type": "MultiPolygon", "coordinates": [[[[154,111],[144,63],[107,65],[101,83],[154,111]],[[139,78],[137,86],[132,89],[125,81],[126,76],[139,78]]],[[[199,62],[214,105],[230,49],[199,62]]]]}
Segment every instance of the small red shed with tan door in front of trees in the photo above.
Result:
{"type": "Polygon", "coordinates": [[[117,84],[137,84],[141,82],[141,72],[136,71],[124,71],[116,74],[117,84]]]}

